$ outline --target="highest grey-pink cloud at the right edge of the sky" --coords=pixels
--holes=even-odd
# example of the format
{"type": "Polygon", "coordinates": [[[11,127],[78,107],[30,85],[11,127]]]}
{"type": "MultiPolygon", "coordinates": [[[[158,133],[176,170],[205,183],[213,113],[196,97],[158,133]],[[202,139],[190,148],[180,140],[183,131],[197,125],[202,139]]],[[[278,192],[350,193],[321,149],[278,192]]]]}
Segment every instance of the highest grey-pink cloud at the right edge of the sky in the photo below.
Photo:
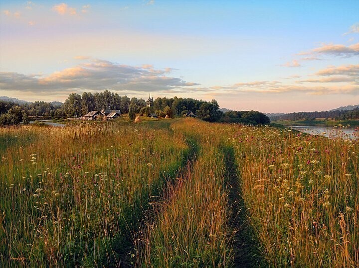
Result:
{"type": "Polygon", "coordinates": [[[312,49],[308,52],[301,52],[296,55],[332,55],[341,57],[352,57],[359,55],[359,43],[350,46],[323,44],[321,47],[312,49]]]}

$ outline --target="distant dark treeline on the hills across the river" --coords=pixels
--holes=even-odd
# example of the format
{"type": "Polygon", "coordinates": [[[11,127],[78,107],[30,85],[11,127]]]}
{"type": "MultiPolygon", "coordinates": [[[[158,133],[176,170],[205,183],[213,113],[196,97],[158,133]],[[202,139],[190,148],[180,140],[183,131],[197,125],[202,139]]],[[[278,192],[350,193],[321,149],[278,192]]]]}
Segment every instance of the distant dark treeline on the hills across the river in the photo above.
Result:
{"type": "Polygon", "coordinates": [[[294,112],[270,117],[272,121],[277,120],[314,120],[316,118],[332,118],[335,120],[359,119],[359,108],[354,110],[335,110],[322,112],[294,112]]]}

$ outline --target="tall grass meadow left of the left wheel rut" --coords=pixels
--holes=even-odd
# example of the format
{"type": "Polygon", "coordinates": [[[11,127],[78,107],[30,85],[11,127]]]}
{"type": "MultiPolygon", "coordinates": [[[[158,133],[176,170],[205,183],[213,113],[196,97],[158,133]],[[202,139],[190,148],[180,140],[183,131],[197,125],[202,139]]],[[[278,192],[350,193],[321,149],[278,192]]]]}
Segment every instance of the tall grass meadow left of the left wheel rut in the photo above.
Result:
{"type": "Polygon", "coordinates": [[[120,265],[151,196],[189,152],[180,134],[128,124],[4,132],[33,140],[1,155],[5,266],[120,265]]]}

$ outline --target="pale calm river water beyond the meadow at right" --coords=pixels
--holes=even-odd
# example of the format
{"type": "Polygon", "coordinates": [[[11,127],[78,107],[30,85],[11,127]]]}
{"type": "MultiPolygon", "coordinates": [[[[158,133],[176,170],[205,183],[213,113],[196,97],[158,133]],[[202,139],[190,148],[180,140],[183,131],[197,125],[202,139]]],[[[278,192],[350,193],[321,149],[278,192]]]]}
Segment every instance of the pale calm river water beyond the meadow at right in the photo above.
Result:
{"type": "Polygon", "coordinates": [[[288,126],[291,129],[311,135],[322,135],[329,138],[343,137],[344,139],[358,139],[359,132],[355,128],[335,128],[325,126],[288,126]]]}

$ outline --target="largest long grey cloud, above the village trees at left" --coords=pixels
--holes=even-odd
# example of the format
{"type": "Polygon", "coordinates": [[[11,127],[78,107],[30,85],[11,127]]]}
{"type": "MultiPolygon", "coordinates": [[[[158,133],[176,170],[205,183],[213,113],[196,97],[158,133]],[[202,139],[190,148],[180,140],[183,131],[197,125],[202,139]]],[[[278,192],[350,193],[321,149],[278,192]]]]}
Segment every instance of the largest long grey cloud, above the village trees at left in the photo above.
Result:
{"type": "Polygon", "coordinates": [[[61,90],[160,91],[198,86],[180,78],[168,77],[166,70],[144,69],[104,60],[91,60],[78,66],[38,77],[12,72],[0,73],[0,89],[27,92],[61,90]]]}

